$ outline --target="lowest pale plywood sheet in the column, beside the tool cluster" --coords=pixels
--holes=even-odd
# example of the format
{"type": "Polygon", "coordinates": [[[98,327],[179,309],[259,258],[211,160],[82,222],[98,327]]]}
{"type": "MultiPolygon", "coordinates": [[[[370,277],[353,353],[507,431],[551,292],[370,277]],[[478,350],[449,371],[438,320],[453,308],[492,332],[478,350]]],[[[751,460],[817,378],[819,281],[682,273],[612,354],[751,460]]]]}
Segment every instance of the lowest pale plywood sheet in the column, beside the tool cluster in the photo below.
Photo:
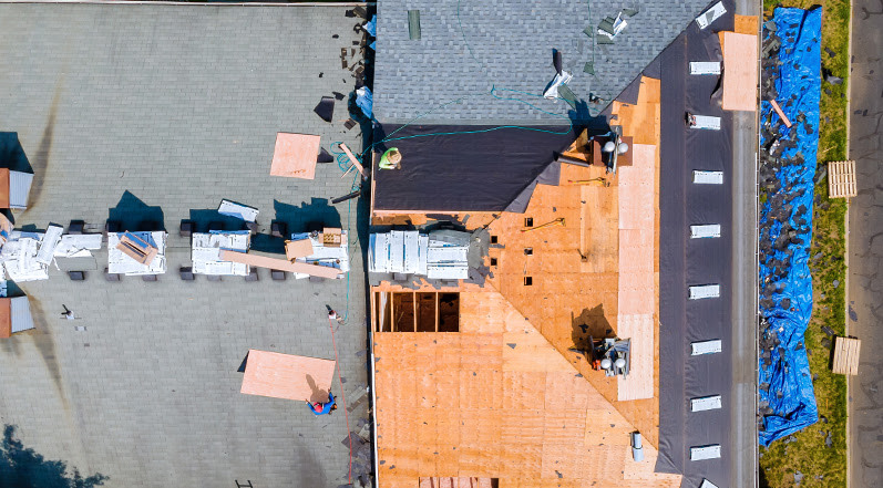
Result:
{"type": "Polygon", "coordinates": [[[653,398],[656,349],[653,314],[619,315],[619,338],[632,340],[628,376],[617,376],[619,401],[653,398]]]}

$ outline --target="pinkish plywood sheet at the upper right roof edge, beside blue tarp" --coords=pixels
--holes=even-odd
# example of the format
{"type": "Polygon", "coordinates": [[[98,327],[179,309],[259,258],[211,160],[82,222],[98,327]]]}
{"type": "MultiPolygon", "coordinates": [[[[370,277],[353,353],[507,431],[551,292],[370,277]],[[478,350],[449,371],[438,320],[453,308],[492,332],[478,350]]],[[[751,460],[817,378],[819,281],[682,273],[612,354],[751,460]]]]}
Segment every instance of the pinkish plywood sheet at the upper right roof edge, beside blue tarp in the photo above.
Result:
{"type": "Polygon", "coordinates": [[[758,106],[758,37],[723,32],[723,96],[728,111],[756,111],[758,106]]]}

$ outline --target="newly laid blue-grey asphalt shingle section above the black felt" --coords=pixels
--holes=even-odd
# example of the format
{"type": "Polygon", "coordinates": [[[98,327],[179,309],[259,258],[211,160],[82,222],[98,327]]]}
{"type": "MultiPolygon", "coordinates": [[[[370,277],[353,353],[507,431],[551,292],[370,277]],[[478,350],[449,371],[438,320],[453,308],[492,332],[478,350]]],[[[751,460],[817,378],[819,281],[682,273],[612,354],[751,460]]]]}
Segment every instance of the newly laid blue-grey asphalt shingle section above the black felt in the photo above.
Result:
{"type": "Polygon", "coordinates": [[[422,124],[567,124],[567,103],[533,96],[555,75],[553,49],[563,53],[577,97],[587,100],[594,93],[609,102],[708,4],[383,0],[378,2],[374,116],[399,124],[418,116],[422,124]],[[638,13],[626,18],[628,27],[614,44],[599,45],[583,32],[591,27],[597,37],[602,19],[615,18],[624,8],[638,13]],[[410,40],[408,10],[420,11],[420,40],[410,40]],[[586,62],[594,62],[594,75],[584,73],[586,62]],[[533,106],[501,100],[506,97],[533,106]],[[459,101],[449,103],[454,100],[459,101]]]}

